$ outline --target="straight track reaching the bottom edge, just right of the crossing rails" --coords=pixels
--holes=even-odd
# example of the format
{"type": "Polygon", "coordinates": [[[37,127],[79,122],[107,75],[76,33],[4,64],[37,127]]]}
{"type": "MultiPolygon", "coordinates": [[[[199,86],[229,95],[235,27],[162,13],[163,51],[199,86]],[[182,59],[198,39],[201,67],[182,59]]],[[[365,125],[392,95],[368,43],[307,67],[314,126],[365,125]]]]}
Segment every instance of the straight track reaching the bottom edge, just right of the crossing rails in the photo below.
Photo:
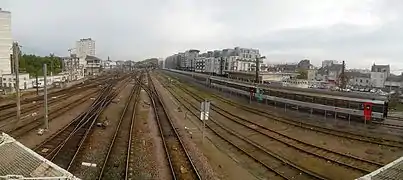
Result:
{"type": "MultiPolygon", "coordinates": [[[[142,76],[140,75],[140,80],[142,76]]],[[[140,95],[140,80],[134,85],[129,100],[119,118],[118,126],[109,145],[98,179],[130,179],[129,173],[131,137],[135,122],[136,106],[140,95]],[[133,99],[134,96],[134,99],[133,99]]]]}

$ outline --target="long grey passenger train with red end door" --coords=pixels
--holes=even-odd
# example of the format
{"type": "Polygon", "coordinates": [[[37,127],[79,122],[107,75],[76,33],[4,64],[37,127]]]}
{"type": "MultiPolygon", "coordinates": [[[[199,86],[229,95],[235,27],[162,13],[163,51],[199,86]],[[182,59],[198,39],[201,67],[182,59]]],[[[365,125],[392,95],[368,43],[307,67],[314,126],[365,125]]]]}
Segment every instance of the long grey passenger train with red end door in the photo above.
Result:
{"type": "Polygon", "coordinates": [[[233,92],[274,106],[290,107],[309,113],[324,113],[325,116],[349,120],[383,121],[388,116],[388,99],[384,96],[254,84],[195,72],[166,70],[192,76],[209,87],[233,92]]]}

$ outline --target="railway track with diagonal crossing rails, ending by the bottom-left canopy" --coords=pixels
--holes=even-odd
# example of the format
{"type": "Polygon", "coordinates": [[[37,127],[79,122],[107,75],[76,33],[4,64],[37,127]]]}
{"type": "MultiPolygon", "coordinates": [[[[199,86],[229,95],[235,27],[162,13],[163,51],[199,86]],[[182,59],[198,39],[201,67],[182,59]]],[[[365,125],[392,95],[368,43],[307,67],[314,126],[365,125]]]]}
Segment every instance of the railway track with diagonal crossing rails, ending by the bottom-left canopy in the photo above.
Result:
{"type": "Polygon", "coordinates": [[[117,95],[113,88],[115,83],[113,82],[102,89],[100,95],[86,112],[46,139],[34,148],[34,151],[69,170],[98,116],[117,95]]]}

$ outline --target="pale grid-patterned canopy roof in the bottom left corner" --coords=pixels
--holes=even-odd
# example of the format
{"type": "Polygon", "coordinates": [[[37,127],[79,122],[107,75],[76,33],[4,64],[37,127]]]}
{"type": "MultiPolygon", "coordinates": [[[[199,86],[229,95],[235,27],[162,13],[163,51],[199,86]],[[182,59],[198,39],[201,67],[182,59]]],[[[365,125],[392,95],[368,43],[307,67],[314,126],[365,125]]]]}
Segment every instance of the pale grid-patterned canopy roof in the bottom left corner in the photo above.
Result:
{"type": "Polygon", "coordinates": [[[0,179],[79,180],[5,133],[0,135],[0,179]]]}

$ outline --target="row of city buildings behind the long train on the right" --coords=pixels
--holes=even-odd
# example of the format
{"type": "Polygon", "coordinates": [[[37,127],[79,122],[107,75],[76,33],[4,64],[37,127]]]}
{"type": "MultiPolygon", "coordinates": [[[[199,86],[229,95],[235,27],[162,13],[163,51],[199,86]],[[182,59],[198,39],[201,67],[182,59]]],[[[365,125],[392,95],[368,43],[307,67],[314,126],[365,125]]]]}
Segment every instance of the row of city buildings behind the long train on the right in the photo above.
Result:
{"type": "Polygon", "coordinates": [[[343,71],[342,61],[338,60],[323,60],[320,67],[315,67],[309,59],[300,60],[299,63],[271,65],[264,63],[264,59],[258,49],[252,48],[235,47],[203,53],[190,49],[167,57],[163,67],[228,76],[256,71],[256,62],[259,60],[259,71],[264,74],[263,79],[268,83],[276,81],[287,86],[330,88],[337,86],[343,76],[347,81],[348,91],[391,91],[403,88],[403,73],[391,74],[388,64],[368,64],[368,70],[343,71]]]}

